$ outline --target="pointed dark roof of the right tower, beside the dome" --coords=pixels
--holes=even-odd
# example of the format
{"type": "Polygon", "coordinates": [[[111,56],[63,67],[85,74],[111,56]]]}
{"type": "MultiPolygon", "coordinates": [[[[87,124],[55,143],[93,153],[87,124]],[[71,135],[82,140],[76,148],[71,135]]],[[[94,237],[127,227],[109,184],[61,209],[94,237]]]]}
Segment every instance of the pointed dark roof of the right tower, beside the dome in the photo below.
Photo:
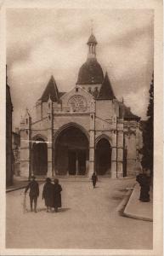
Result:
{"type": "Polygon", "coordinates": [[[116,99],[116,96],[113,92],[112,86],[110,84],[110,79],[108,77],[108,73],[105,73],[105,79],[101,88],[99,90],[99,100],[113,100],[116,99]]]}

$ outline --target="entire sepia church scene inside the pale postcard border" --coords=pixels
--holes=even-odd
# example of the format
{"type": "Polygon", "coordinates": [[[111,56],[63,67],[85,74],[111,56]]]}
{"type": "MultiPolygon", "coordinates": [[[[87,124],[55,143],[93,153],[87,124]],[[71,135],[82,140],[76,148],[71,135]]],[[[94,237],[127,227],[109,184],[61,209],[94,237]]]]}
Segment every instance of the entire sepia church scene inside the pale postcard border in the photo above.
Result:
{"type": "Polygon", "coordinates": [[[6,252],[150,255],[155,10],[12,6],[5,38],[6,252]]]}

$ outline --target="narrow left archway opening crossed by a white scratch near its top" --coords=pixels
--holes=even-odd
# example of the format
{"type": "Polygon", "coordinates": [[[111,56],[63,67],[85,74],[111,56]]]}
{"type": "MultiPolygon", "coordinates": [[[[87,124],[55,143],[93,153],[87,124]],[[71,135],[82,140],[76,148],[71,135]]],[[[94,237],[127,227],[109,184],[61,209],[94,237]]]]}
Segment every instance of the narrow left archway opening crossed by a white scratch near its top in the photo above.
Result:
{"type": "Polygon", "coordinates": [[[32,171],[34,175],[42,176],[48,172],[48,145],[42,137],[37,137],[32,145],[32,171]]]}

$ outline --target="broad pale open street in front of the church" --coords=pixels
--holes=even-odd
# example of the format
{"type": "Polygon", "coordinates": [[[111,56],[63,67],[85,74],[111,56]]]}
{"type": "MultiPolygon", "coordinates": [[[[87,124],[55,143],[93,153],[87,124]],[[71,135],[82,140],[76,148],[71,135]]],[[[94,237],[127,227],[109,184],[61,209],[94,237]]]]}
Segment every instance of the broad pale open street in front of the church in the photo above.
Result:
{"type": "Polygon", "coordinates": [[[43,185],[37,213],[23,212],[23,189],[6,195],[6,247],[152,249],[153,224],[116,212],[134,179],[102,179],[96,189],[88,181],[60,183],[62,209],[57,213],[46,212],[43,185]]]}

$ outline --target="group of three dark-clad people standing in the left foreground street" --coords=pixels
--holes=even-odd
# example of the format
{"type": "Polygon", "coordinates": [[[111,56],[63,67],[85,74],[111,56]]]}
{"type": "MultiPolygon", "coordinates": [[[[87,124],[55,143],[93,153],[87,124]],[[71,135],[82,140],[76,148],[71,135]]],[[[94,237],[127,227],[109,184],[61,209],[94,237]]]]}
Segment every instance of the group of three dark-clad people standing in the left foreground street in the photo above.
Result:
{"type": "MultiPolygon", "coordinates": [[[[39,184],[36,181],[36,177],[31,177],[31,182],[28,183],[25,188],[25,194],[28,189],[30,189],[30,205],[31,212],[33,211],[33,203],[34,203],[34,212],[37,212],[37,198],[39,196],[39,184]]],[[[61,185],[59,184],[59,180],[57,178],[54,179],[54,183],[52,183],[51,178],[46,178],[46,183],[42,189],[42,200],[45,201],[45,205],[47,207],[47,212],[52,212],[52,208],[54,208],[54,212],[58,212],[58,208],[61,207],[61,194],[62,191],[61,185]]]]}

